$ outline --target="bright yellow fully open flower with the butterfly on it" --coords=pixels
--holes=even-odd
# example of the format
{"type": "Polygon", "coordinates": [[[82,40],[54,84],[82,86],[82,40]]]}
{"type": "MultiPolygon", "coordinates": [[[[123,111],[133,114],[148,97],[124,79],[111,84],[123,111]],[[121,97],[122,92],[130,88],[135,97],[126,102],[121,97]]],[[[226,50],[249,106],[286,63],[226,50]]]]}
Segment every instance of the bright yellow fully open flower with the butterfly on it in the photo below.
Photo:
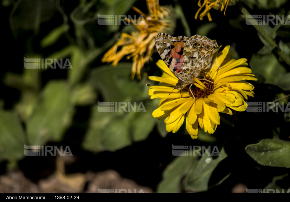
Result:
{"type": "Polygon", "coordinates": [[[189,92],[189,86],[182,90],[173,90],[178,78],[172,74],[163,60],[156,63],[164,71],[163,75],[150,76],[149,79],[172,85],[149,88],[151,99],[161,98],[159,107],[152,115],[159,120],[166,118],[164,122],[168,132],[178,131],[186,119],[186,129],[195,139],[198,136],[198,125],[205,132],[214,133],[220,124],[218,112],[232,115],[231,109],[240,112],[246,110],[247,103],[244,98],[254,96],[254,86],[243,80],[257,79],[251,74],[252,70],[246,67],[247,59],[233,59],[234,53],[229,52],[229,49],[230,46],[226,46],[223,51],[217,52],[213,56],[210,71],[205,72],[205,78],[215,84],[195,79],[191,88],[195,99],[189,92]]]}

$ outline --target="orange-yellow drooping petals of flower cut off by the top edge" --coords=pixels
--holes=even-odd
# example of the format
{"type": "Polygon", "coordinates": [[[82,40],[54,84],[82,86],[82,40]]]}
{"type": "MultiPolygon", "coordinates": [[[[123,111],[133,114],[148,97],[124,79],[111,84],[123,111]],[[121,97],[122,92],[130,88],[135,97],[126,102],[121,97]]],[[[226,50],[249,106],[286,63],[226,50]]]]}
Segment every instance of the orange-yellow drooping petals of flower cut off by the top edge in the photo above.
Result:
{"type": "Polygon", "coordinates": [[[227,6],[235,5],[237,0],[203,0],[203,4],[201,5],[201,0],[198,1],[198,6],[200,7],[195,14],[195,20],[198,17],[198,13],[202,8],[205,8],[201,14],[199,14],[199,19],[202,20],[206,15],[208,16],[208,20],[212,21],[211,14],[209,14],[209,10],[214,8],[216,10],[224,10],[224,15],[226,15],[227,6]]]}

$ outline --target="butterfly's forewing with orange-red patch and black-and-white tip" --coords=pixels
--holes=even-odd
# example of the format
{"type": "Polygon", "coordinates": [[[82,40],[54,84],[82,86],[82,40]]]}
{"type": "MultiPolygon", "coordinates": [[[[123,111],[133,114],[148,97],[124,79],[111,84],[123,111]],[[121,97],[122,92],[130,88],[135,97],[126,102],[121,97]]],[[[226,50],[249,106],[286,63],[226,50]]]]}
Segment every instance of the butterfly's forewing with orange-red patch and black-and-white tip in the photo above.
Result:
{"type": "Polygon", "coordinates": [[[188,39],[186,36],[173,37],[166,33],[158,34],[155,38],[159,55],[170,71],[184,82],[187,78],[182,71],[183,48],[188,39]]]}

